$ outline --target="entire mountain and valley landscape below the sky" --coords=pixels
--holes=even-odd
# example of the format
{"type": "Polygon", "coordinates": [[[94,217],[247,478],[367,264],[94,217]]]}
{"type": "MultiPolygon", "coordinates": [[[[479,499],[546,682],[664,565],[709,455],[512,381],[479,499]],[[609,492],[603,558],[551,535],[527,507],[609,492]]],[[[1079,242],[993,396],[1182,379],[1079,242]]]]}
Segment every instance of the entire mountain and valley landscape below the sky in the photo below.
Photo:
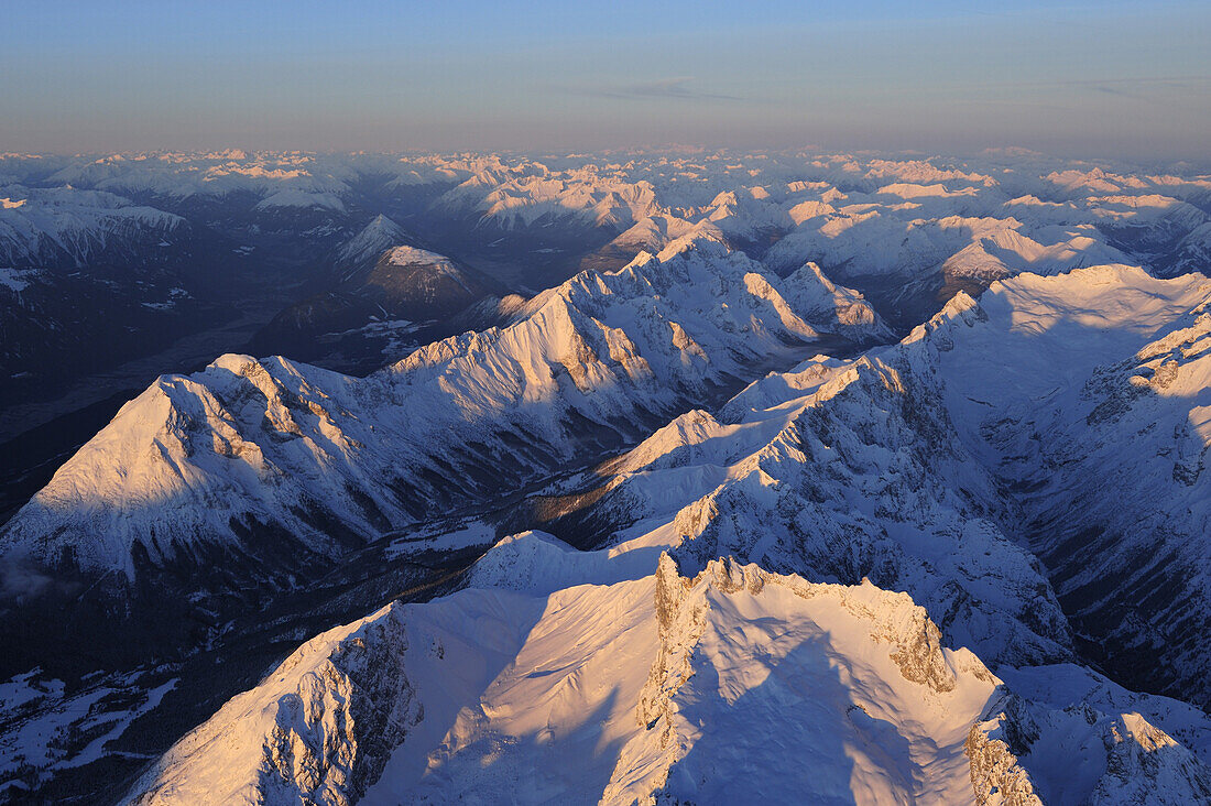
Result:
{"type": "Polygon", "coordinates": [[[1211,173],[0,156],[0,802],[1211,802],[1211,173]]]}

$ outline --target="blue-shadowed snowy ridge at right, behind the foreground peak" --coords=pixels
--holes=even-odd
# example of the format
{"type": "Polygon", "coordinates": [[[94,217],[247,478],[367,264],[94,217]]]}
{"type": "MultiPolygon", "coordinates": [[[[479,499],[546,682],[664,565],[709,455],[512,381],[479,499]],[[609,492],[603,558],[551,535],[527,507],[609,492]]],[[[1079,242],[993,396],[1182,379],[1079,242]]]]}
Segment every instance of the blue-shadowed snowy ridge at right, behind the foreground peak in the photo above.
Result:
{"type": "Polygon", "coordinates": [[[1081,625],[1164,646],[1155,679],[1203,697],[1209,297],[1201,275],[1115,265],[1021,275],[978,304],[960,295],[899,345],[816,356],[718,417],[681,416],[607,468],[597,513],[621,526],[615,550],[906,590],[993,664],[1071,657],[1025,548],[1050,526],[1031,548],[1081,625]],[[1104,541],[1057,551],[1090,530],[1104,541]],[[1100,594],[1108,577],[1123,584],[1100,594]]]}

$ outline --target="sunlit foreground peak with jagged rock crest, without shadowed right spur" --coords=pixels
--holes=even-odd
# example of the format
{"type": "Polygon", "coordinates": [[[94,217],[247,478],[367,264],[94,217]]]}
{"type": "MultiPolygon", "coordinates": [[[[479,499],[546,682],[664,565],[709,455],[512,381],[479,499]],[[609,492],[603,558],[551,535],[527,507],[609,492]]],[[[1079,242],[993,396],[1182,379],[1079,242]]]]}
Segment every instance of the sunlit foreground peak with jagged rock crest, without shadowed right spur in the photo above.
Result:
{"type": "Polygon", "coordinates": [[[654,576],[609,585],[464,590],[308,642],[182,739],[132,796],[407,801],[440,796],[455,779],[472,796],[521,800],[535,788],[609,804],[830,796],[851,784],[820,774],[827,759],[888,721],[936,750],[871,758],[854,774],[889,795],[924,774],[931,790],[963,798],[965,765],[941,761],[962,758],[995,681],[930,635],[906,596],[729,562],[694,579],[665,558],[654,576]],[[744,628],[754,618],[767,629],[744,628]],[[535,702],[547,705],[530,713],[535,702]],[[803,764],[790,777],[761,772],[785,759],[781,743],[741,730],[771,708],[794,719],[785,736],[803,764]],[[704,774],[727,753],[723,736],[741,743],[750,773],[704,774]],[[214,777],[223,791],[207,788],[214,777]]]}

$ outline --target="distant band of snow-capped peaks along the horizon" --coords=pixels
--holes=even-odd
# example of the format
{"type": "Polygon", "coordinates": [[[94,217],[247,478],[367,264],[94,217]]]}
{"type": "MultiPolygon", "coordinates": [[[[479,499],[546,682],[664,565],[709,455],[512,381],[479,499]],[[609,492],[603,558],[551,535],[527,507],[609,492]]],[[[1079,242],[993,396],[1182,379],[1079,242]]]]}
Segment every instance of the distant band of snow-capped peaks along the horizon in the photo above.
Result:
{"type": "MultiPolygon", "coordinates": [[[[608,248],[629,257],[705,234],[762,255],[777,271],[814,261],[844,282],[899,275],[943,288],[1108,262],[1196,270],[1182,262],[1180,242],[1211,219],[1206,176],[1021,149],[966,160],[823,152],[0,155],[5,176],[70,194],[247,200],[249,210],[338,216],[371,181],[385,194],[429,188],[429,215],[503,235],[602,229],[615,236],[608,248]],[[986,224],[957,227],[955,218],[986,224]],[[991,240],[981,234],[988,224],[1000,230],[991,240]]],[[[0,193],[8,205],[25,201],[21,187],[0,193]]]]}

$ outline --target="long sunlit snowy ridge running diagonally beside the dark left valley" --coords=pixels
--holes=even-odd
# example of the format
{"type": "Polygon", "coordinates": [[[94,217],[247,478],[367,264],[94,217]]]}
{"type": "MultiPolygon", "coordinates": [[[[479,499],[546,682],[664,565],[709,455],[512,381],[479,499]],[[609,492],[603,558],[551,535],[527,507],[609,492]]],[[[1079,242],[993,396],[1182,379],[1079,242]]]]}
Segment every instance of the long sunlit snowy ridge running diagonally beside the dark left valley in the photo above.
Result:
{"type": "Polygon", "coordinates": [[[335,556],[642,434],[821,335],[884,332],[811,268],[779,280],[682,242],[365,379],[240,355],[161,377],[6,525],[4,549],[131,578],[208,544],[266,559],[266,533],[335,556]]]}

